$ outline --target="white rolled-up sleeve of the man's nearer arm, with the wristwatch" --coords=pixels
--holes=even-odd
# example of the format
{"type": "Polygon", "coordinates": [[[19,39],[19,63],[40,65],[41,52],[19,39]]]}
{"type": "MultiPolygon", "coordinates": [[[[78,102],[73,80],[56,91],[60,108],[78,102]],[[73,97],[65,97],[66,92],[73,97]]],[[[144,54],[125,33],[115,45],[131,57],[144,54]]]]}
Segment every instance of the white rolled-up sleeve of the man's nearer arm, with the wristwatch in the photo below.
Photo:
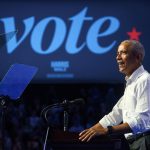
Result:
{"type": "Polygon", "coordinates": [[[125,112],[124,116],[133,133],[138,133],[150,130],[150,80],[141,80],[135,93],[135,111],[125,112]]]}

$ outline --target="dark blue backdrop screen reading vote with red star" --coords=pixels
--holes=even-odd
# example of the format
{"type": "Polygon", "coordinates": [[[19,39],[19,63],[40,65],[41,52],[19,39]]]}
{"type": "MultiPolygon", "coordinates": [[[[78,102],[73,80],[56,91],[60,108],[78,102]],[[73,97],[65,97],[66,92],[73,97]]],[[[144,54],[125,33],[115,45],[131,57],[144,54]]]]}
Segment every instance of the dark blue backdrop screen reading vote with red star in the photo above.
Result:
{"type": "Polygon", "coordinates": [[[0,49],[0,78],[13,63],[37,66],[35,83],[120,83],[116,50],[143,43],[150,71],[150,2],[1,1],[0,33],[17,34],[0,49]]]}

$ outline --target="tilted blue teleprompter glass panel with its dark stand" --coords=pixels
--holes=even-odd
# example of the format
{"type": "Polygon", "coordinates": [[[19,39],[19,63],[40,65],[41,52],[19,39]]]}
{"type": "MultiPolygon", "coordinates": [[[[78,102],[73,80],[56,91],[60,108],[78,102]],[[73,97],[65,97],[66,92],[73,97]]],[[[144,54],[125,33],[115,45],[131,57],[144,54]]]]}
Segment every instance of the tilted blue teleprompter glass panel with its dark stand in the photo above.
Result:
{"type": "Polygon", "coordinates": [[[0,82],[0,109],[1,109],[1,133],[2,150],[5,149],[5,111],[7,103],[20,98],[27,85],[37,72],[37,67],[13,64],[0,82]]]}

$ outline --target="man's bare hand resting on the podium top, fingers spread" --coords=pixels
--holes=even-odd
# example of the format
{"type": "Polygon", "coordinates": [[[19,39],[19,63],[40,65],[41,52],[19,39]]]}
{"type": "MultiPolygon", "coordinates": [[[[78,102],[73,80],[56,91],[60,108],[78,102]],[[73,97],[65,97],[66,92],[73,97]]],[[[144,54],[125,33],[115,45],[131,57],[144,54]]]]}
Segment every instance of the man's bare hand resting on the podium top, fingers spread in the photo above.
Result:
{"type": "Polygon", "coordinates": [[[88,142],[95,136],[107,135],[107,133],[108,133],[107,128],[103,128],[99,123],[97,123],[93,127],[82,131],[79,134],[79,140],[88,142]]]}

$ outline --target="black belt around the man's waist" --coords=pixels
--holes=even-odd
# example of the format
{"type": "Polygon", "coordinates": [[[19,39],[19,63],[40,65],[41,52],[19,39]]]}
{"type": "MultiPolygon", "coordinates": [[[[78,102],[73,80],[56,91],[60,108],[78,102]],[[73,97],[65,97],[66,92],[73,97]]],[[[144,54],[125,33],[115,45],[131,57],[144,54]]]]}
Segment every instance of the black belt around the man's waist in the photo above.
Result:
{"type": "Polygon", "coordinates": [[[134,134],[134,135],[129,135],[129,136],[127,137],[127,141],[128,141],[129,143],[132,143],[132,142],[138,140],[139,138],[144,137],[144,136],[147,136],[147,135],[150,135],[150,131],[143,132],[143,133],[139,133],[139,134],[134,134]]]}

